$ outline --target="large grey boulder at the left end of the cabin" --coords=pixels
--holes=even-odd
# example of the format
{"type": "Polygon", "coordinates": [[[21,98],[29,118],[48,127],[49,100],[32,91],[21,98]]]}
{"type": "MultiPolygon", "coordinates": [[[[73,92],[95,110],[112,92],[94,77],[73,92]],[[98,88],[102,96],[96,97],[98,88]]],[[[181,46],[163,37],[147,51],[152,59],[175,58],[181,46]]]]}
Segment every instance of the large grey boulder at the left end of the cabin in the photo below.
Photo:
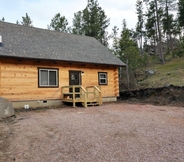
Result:
{"type": "Polygon", "coordinates": [[[0,118],[6,118],[15,115],[11,101],[0,97],[0,118]]]}

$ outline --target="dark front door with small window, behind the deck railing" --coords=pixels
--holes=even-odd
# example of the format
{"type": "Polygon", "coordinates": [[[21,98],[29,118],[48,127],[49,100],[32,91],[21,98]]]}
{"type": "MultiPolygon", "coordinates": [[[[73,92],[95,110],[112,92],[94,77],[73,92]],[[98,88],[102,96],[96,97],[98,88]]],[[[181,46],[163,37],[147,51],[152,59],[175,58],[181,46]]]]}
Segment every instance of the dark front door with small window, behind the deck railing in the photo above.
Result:
{"type": "MultiPolygon", "coordinates": [[[[69,71],[69,85],[81,85],[81,71],[69,71]]],[[[72,88],[70,92],[73,92],[72,88]]],[[[75,88],[75,92],[80,92],[80,88],[75,88]]],[[[75,97],[80,97],[80,94],[75,97]]]]}

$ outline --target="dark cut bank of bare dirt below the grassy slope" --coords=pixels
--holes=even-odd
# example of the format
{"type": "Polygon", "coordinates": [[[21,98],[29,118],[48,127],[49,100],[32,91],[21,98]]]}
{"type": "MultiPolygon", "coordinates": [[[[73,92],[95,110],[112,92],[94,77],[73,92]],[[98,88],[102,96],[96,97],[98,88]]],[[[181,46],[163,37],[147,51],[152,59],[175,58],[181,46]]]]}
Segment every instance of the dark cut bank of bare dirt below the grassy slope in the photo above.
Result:
{"type": "Polygon", "coordinates": [[[122,91],[119,99],[124,102],[184,107],[184,87],[169,85],[159,88],[122,91]]]}

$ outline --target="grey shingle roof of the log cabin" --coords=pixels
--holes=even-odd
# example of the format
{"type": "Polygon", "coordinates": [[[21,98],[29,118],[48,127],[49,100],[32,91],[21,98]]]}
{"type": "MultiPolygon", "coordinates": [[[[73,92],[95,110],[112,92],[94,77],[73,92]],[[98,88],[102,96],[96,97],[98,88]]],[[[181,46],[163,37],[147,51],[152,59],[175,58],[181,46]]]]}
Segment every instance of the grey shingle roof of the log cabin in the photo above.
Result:
{"type": "Polygon", "coordinates": [[[124,66],[95,38],[0,21],[0,56],[124,66]]]}

